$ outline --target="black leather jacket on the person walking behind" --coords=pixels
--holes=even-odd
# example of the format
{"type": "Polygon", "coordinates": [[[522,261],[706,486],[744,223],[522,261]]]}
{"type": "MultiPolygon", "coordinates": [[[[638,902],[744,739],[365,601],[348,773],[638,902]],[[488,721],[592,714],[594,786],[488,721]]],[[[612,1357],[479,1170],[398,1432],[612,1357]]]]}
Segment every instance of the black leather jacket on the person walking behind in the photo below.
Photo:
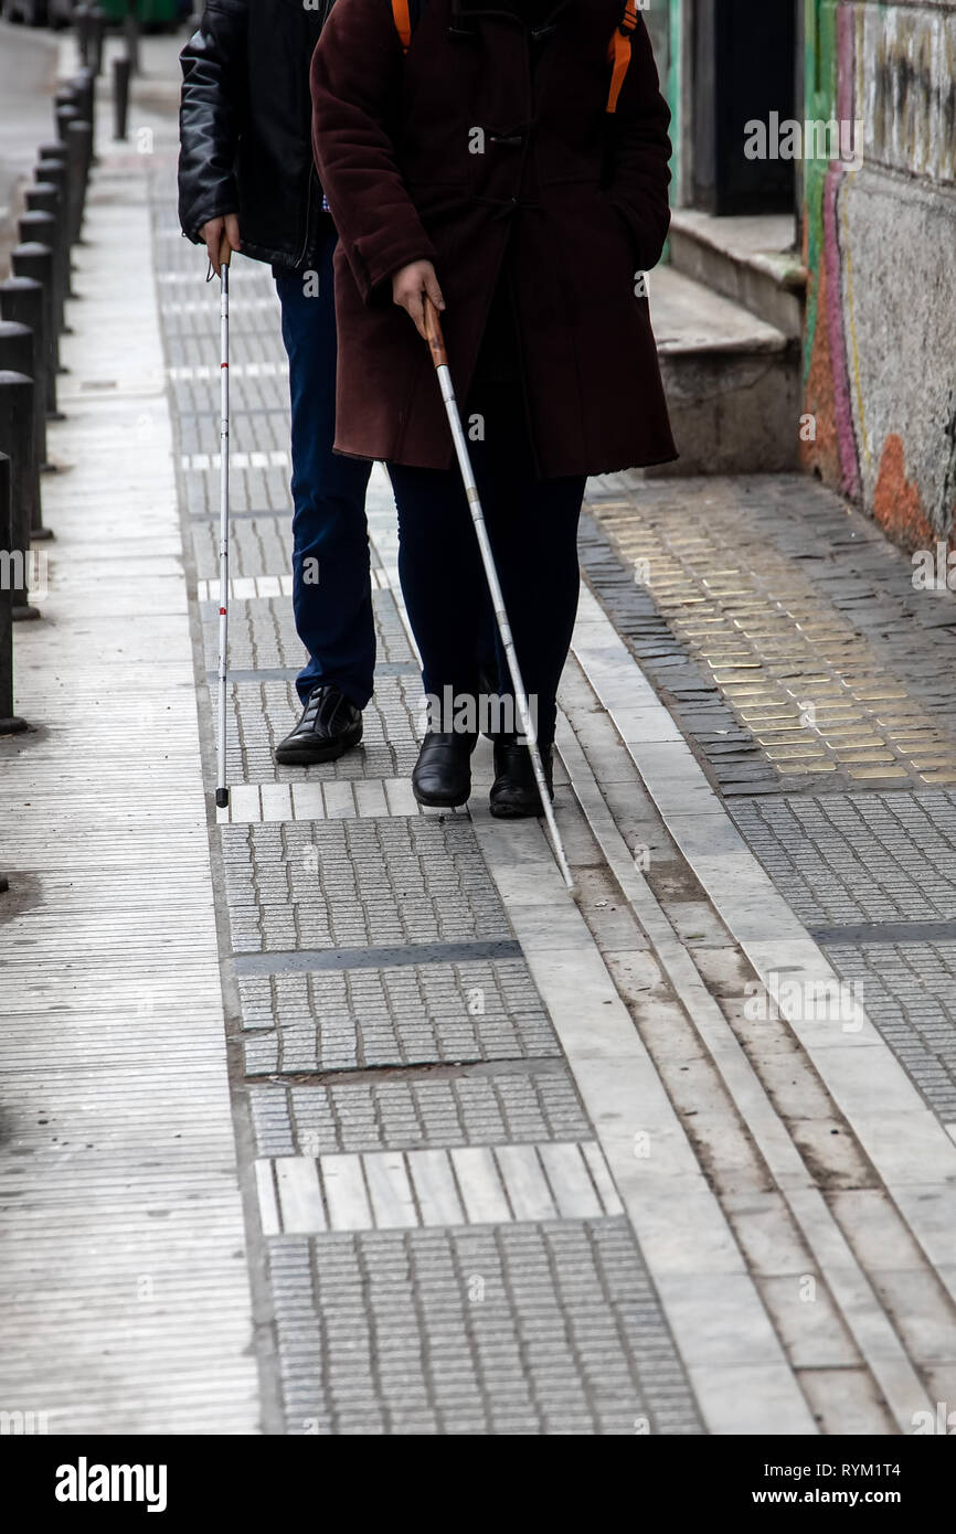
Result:
{"type": "Polygon", "coordinates": [[[180,224],[239,215],[242,255],[310,267],[328,215],[312,158],[308,66],[333,0],[209,0],[180,55],[180,224]]]}

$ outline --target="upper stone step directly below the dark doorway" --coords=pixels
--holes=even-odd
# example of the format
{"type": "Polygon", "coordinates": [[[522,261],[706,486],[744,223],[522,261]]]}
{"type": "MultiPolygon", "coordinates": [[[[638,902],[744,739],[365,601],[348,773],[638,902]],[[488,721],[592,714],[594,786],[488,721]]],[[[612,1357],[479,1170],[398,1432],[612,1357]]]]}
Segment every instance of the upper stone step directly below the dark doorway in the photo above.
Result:
{"type": "Polygon", "coordinates": [[[675,209],[671,264],[775,325],[789,341],[799,341],[807,272],[793,250],[793,233],[789,213],[715,218],[675,209]]]}

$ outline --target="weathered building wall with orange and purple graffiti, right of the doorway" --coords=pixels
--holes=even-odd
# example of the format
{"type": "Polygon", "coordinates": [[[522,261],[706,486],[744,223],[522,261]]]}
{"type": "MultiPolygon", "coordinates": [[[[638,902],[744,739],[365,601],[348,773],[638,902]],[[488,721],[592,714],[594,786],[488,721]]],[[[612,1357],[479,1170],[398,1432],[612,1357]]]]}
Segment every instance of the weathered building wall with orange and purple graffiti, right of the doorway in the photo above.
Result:
{"type": "Polygon", "coordinates": [[[807,0],[806,106],[864,124],[859,164],[806,166],[806,463],[907,546],[954,538],[954,0],[807,0]]]}

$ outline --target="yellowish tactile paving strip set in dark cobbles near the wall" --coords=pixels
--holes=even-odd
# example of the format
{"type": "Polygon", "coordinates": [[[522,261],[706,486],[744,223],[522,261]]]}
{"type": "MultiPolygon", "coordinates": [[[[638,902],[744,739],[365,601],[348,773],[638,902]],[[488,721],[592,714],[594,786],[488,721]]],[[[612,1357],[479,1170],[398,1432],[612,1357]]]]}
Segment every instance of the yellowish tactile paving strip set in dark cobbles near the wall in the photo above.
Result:
{"type": "Polygon", "coordinates": [[[747,558],[720,486],[701,497],[700,520],[675,515],[677,500],[675,491],[608,497],[591,511],[761,759],[780,778],[956,782],[954,739],[858,632],[867,583],[842,574],[819,589],[767,542],[747,558]]]}

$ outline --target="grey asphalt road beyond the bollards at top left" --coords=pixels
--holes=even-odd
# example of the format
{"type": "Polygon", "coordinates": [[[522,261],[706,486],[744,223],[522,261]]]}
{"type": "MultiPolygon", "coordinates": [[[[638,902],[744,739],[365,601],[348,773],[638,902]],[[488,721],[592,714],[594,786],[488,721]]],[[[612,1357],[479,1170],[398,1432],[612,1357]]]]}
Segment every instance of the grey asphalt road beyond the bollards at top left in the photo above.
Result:
{"type": "Polygon", "coordinates": [[[0,21],[0,278],[8,275],[18,187],[37,146],[54,137],[57,52],[52,32],[0,21]]]}

